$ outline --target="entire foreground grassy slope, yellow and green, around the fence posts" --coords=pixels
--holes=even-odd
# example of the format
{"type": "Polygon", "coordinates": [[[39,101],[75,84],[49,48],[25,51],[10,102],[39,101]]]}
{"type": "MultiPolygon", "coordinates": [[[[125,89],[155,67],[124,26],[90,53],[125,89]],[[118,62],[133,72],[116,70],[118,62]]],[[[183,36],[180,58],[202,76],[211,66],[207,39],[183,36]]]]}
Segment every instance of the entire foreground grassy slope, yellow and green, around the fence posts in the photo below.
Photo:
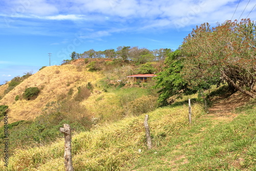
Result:
{"type": "MultiPolygon", "coordinates": [[[[145,146],[144,115],[95,127],[73,137],[77,170],[255,170],[255,100],[236,110],[236,118],[213,121],[193,104],[148,113],[154,148],[145,146]],[[141,149],[141,153],[138,150],[141,149]]],[[[17,151],[8,170],[63,170],[63,140],[17,151]]],[[[3,165],[2,163],[0,165],[3,165]]],[[[1,167],[0,167],[1,168],[1,167]]],[[[3,168],[2,168],[3,169],[3,168]]]]}

